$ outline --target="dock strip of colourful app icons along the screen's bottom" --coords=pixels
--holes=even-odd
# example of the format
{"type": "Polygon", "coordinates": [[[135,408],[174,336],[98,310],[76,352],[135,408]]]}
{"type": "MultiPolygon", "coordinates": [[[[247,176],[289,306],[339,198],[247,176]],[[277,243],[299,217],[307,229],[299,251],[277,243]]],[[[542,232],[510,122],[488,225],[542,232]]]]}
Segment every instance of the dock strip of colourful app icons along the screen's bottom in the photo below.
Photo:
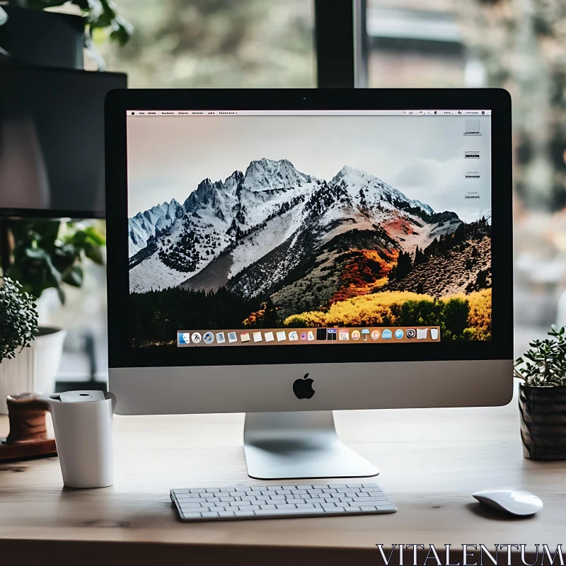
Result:
{"type": "Polygon", "coordinates": [[[391,342],[440,342],[440,327],[251,328],[250,330],[178,330],[177,332],[178,347],[388,344],[391,342]]]}

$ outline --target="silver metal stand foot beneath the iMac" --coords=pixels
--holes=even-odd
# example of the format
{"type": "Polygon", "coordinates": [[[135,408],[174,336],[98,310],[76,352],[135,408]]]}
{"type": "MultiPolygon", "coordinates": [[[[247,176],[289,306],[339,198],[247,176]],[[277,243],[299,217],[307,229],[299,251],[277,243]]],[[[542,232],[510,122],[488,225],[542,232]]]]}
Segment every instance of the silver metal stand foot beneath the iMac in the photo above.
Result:
{"type": "Polygon", "coordinates": [[[250,478],[369,478],[379,470],[342,444],[332,411],[248,412],[243,446],[250,478]]]}

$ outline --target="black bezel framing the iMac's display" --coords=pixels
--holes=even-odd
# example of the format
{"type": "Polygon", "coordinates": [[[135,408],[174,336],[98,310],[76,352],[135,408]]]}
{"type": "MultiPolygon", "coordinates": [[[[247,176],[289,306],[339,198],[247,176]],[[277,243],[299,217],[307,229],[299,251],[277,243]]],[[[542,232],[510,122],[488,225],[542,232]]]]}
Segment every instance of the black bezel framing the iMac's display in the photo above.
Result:
{"type": "Polygon", "coordinates": [[[108,358],[113,368],[512,359],[511,98],[503,89],[144,89],[105,100],[108,358]],[[129,345],[127,110],[492,110],[492,340],[427,344],[132,348],[129,345]],[[495,190],[494,190],[495,187],[495,190]],[[253,353],[252,353],[253,352],[253,353]]]}

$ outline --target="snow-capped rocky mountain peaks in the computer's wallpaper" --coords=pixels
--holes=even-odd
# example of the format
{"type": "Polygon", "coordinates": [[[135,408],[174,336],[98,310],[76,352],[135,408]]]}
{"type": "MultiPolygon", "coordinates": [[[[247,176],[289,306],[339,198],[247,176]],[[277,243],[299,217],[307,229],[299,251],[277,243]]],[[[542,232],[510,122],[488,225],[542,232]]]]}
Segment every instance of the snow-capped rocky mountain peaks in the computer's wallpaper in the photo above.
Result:
{"type": "Polygon", "coordinates": [[[183,205],[129,219],[130,289],[226,285],[260,296],[348,234],[412,250],[458,224],[364,171],[345,166],[326,181],[263,158],[224,182],[203,180],[183,205]]]}

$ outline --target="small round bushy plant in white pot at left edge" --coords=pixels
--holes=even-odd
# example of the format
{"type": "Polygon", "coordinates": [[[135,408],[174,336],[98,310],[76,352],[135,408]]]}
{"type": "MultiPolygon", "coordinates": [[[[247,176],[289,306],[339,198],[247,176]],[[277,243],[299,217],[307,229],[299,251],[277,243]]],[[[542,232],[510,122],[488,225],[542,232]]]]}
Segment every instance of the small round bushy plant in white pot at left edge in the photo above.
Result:
{"type": "Polygon", "coordinates": [[[23,291],[21,284],[4,277],[0,287],[0,413],[8,412],[7,395],[42,387],[42,377],[49,371],[49,363],[54,362],[37,359],[31,353],[30,345],[37,331],[33,297],[23,291]],[[34,372],[32,364],[40,364],[39,371],[34,372]],[[34,375],[39,379],[32,381],[34,375]]]}

